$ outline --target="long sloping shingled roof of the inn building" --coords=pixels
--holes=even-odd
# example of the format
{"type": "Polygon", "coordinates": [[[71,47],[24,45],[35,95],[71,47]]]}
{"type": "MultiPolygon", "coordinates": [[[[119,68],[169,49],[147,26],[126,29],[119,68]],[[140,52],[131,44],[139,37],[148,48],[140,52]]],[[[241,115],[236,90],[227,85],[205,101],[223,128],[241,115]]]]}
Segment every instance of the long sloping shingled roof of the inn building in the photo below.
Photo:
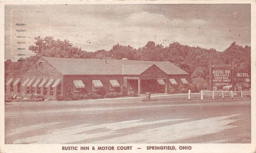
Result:
{"type": "Polygon", "coordinates": [[[136,75],[153,64],[166,74],[188,74],[169,61],[107,59],[107,64],[105,64],[105,59],[42,58],[63,75],[122,75],[123,72],[136,75]],[[128,70],[132,72],[130,73],[128,70]]]}

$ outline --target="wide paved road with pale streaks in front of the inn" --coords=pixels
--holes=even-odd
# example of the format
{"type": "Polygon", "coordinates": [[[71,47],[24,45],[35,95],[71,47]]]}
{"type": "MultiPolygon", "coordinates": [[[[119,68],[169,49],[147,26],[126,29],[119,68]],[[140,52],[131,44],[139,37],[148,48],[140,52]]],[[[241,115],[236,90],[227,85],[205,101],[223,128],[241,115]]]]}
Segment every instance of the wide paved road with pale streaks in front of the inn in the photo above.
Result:
{"type": "Polygon", "coordinates": [[[250,114],[250,99],[6,105],[5,143],[250,143],[250,114]]]}

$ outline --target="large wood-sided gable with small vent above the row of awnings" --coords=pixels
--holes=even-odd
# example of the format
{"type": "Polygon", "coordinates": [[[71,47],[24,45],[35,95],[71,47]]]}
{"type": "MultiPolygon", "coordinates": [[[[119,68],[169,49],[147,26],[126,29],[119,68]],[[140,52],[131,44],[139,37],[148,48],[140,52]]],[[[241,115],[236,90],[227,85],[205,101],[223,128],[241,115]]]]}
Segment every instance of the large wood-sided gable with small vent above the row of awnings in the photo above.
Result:
{"type": "Polygon", "coordinates": [[[60,76],[61,74],[43,58],[39,58],[23,76],[60,76]],[[43,66],[39,66],[43,63],[43,66]]]}

